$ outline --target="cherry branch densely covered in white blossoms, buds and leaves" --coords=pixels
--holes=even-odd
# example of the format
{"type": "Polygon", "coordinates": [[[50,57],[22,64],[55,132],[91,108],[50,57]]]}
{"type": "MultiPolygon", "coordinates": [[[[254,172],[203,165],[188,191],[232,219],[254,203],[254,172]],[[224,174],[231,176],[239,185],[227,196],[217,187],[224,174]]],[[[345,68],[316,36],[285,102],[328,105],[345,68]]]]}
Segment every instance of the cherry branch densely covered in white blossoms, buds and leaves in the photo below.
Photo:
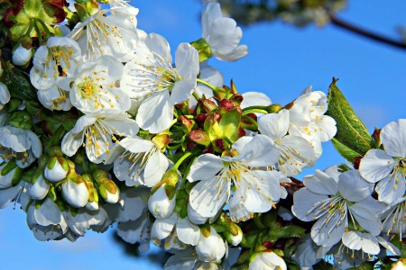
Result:
{"type": "Polygon", "coordinates": [[[164,269],[404,267],[405,120],[371,135],[336,78],[285,105],[238,93],[208,65],[248,54],[216,2],[174,58],[124,1],[0,8],[0,208],[34,238],[116,222],[164,269]],[[297,179],[329,140],[348,164],[297,179]]]}

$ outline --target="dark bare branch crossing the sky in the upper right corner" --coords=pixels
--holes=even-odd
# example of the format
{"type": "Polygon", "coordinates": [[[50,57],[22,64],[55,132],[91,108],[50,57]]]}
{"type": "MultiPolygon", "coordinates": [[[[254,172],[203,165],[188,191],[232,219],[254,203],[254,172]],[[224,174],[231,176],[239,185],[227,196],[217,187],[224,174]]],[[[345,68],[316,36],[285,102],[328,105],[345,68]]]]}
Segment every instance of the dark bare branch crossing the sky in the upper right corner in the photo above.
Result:
{"type": "Polygon", "coordinates": [[[364,36],[365,38],[368,38],[370,40],[376,40],[376,41],[382,42],[384,44],[391,45],[392,47],[396,47],[398,49],[406,49],[406,43],[403,41],[392,40],[390,38],[383,37],[377,33],[374,33],[371,31],[366,31],[353,24],[346,23],[340,19],[337,19],[337,17],[334,16],[333,14],[330,14],[329,17],[330,17],[331,23],[333,23],[337,27],[345,29],[346,31],[351,31],[358,35],[364,36]]]}

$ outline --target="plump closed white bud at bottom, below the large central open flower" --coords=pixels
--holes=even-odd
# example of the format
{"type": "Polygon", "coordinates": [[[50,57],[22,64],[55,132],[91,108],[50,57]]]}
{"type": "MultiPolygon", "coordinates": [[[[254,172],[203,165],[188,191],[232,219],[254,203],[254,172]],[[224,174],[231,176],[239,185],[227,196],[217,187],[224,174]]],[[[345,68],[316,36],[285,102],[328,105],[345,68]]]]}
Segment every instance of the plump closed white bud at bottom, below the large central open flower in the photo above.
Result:
{"type": "Polygon", "coordinates": [[[202,261],[216,263],[226,255],[226,244],[216,229],[210,227],[209,232],[200,232],[196,253],[202,261]]]}

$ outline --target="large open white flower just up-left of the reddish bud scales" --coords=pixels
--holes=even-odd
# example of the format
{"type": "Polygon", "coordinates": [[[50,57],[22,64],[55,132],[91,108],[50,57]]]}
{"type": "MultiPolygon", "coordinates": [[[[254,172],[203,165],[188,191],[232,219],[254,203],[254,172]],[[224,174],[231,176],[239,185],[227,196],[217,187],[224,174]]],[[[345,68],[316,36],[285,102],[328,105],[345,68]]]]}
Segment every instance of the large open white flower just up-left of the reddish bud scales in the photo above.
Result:
{"type": "Polygon", "coordinates": [[[132,98],[149,95],[140,105],[136,121],[143,130],[158,133],[170,126],[174,105],[186,101],[197,84],[198,50],[181,43],[175,52],[175,69],[164,38],[149,34],[145,45],[125,65],[121,88],[132,98]]]}

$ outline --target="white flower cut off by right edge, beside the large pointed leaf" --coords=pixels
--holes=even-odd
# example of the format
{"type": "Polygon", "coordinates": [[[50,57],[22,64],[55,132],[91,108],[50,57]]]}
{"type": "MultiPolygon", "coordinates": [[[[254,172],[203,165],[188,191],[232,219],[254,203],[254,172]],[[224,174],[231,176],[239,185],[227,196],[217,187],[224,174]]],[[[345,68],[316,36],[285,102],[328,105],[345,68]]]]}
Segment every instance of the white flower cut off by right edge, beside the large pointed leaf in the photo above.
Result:
{"type": "Polygon", "coordinates": [[[382,149],[371,149],[361,159],[359,173],[370,183],[379,201],[391,203],[404,195],[406,184],[406,119],[390,122],[381,130],[382,149]]]}

